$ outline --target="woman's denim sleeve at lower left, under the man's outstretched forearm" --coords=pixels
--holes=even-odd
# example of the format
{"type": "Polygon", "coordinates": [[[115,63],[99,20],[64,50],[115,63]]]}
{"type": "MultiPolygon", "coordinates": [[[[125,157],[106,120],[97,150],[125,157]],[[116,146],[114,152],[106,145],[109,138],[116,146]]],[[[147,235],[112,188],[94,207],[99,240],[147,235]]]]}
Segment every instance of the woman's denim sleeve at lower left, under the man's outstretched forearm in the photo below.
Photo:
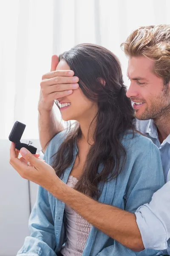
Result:
{"type": "Polygon", "coordinates": [[[30,236],[26,237],[17,256],[56,256],[54,221],[48,202],[48,192],[38,188],[37,201],[29,218],[30,236]]]}

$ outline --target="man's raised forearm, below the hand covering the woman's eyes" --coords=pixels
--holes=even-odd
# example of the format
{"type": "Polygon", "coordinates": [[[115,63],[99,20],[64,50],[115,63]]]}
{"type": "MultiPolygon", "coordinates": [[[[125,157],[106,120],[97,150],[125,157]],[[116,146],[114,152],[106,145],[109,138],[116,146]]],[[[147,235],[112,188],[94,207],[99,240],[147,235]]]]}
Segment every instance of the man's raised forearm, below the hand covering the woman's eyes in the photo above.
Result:
{"type": "Polygon", "coordinates": [[[53,109],[51,111],[39,110],[38,113],[38,130],[42,151],[45,152],[47,143],[55,134],[63,130],[62,125],[57,120],[53,109]]]}

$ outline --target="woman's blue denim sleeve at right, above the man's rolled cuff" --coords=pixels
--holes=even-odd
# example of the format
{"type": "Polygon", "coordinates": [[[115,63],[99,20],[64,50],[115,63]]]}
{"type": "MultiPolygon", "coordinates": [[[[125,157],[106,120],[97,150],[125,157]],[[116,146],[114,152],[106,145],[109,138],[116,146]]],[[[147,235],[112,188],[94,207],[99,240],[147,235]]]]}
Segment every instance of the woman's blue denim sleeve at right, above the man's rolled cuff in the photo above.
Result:
{"type": "Polygon", "coordinates": [[[164,185],[159,149],[150,140],[148,143],[143,151],[141,148],[136,153],[127,182],[124,199],[125,210],[128,212],[136,212],[138,207],[150,202],[153,193],[164,185]]]}

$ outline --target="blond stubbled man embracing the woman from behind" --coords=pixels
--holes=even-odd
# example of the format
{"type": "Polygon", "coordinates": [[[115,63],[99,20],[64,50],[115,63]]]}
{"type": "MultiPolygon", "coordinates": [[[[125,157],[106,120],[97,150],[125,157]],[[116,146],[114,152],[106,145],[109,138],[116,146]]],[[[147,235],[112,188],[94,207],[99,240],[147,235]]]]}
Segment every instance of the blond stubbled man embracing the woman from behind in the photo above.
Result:
{"type": "MultiPolygon", "coordinates": [[[[129,57],[127,90],[136,110],[137,128],[160,150],[166,184],[152,201],[135,214],[116,207],[95,204],[86,195],[74,193],[69,206],[92,225],[132,250],[164,250],[170,255],[170,25],[147,26],[134,31],[124,44],[129,57]],[[83,202],[84,207],[78,204],[83,202]],[[82,211],[82,208],[85,209],[82,211]]],[[[56,70],[58,57],[51,61],[51,72],[42,76],[39,102],[39,133],[43,151],[47,142],[62,131],[53,112],[54,99],[60,99],[78,88],[74,72],[56,70]]],[[[149,166],[148,166],[149,172],[149,166]]],[[[67,199],[64,199],[67,201],[67,199]]]]}

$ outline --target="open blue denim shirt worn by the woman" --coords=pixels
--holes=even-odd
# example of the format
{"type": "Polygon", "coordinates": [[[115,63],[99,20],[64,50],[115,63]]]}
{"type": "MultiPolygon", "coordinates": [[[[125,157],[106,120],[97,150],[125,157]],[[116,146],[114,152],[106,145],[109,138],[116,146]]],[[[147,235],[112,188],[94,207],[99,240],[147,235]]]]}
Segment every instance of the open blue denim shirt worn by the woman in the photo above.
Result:
{"type": "MultiPolygon", "coordinates": [[[[57,134],[49,143],[44,159],[52,164],[59,145],[66,137],[65,131],[57,134]]],[[[164,184],[159,149],[150,139],[140,134],[127,134],[122,139],[127,152],[124,168],[120,175],[103,186],[99,202],[114,205],[129,212],[151,200],[156,190],[164,184]]],[[[62,177],[67,183],[78,149],[75,145],[74,159],[62,177]]],[[[99,172],[102,166],[99,166],[99,172]]],[[[31,235],[26,237],[18,256],[56,256],[66,239],[65,204],[39,186],[37,201],[29,219],[31,235]]],[[[114,218],[111,219],[114,221],[114,218]]],[[[152,256],[158,251],[144,250],[135,253],[111,239],[92,226],[82,256],[152,256]]]]}

